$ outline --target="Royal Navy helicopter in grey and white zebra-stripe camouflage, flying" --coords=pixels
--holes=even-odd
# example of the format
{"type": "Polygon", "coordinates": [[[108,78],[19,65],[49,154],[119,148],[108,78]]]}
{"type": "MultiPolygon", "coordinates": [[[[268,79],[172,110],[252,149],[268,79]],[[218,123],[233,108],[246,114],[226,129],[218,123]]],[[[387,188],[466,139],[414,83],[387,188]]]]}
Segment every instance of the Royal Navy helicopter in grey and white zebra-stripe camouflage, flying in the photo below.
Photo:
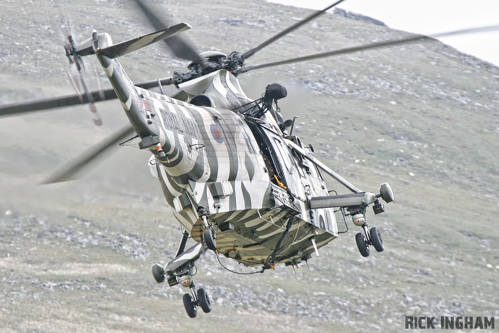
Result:
{"type": "Polygon", "coordinates": [[[313,253],[319,256],[319,249],[342,233],[336,212],[341,213],[345,224],[345,217],[350,216],[353,224],[361,228],[355,240],[363,257],[369,256],[371,246],[378,252],[384,250],[381,233],[375,227],[368,228],[366,214],[371,205],[374,214],[384,212],[380,199],[385,203],[394,200],[390,186],[381,184],[378,193],[361,191],[315,158],[311,154],[313,147],[292,134],[295,118],[284,121],[279,112],[277,101],[287,95],[283,86],[270,84],[261,98],[252,100],[238,81],[240,74],[253,69],[430,38],[414,35],[245,66],[254,53],[342,1],[313,12],[249,51],[226,55],[218,51],[197,52],[178,36],[191,28],[189,24],[165,24],[141,0],[136,0],[157,31],[117,44],[113,44],[108,33],[96,30],[79,44],[71,35],[67,36],[65,55],[69,62],[80,69],[82,57],[95,55],[112,89],[88,91],[82,82],[83,94],[0,106],[0,115],[119,99],[130,124],[44,183],[71,179],[91,160],[106,153],[108,147],[135,134],[133,138],[140,140],[139,147],[152,154],[148,161],[150,171],[183,228],[175,257],[165,266],[153,264],[152,274],[158,283],[190,288],[191,293],[184,295],[183,302],[188,316],[194,318],[198,306],[205,313],[212,309],[206,291],[196,290],[193,282],[195,263],[205,251],[260,269],[250,274],[273,269],[277,264],[294,267],[307,262],[313,253]],[[175,55],[190,61],[188,71],[133,83],[117,57],[160,40],[175,55]],[[171,96],[163,92],[163,86],[169,84],[179,89],[171,96]],[[148,90],[154,87],[160,93],[148,90]],[[351,193],[337,194],[339,188],[328,191],[323,174],[351,193]],[[330,192],[335,195],[329,195],[330,192]],[[186,249],[189,238],[197,244],[186,249]]]}

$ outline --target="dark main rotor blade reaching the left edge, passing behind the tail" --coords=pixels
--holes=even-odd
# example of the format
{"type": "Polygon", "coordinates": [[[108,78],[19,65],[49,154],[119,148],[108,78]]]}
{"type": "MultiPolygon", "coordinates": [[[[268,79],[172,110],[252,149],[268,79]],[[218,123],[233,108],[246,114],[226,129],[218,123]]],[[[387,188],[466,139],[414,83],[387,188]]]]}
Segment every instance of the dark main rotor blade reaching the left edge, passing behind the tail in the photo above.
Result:
{"type": "MultiPolygon", "coordinates": [[[[171,77],[162,78],[159,80],[162,85],[171,84],[173,79],[171,77]]],[[[158,80],[145,81],[135,84],[137,87],[141,87],[144,89],[151,89],[158,86],[158,80]]],[[[95,90],[90,91],[94,102],[100,102],[110,99],[118,98],[114,89],[104,89],[104,90],[95,90]]],[[[91,103],[86,94],[75,94],[75,95],[67,95],[62,97],[52,97],[52,98],[44,98],[38,99],[28,102],[20,102],[13,104],[5,104],[0,105],[0,116],[7,115],[19,115],[22,113],[34,112],[34,111],[43,111],[46,109],[52,109],[57,107],[68,107],[72,105],[79,104],[87,104],[91,103]]]]}

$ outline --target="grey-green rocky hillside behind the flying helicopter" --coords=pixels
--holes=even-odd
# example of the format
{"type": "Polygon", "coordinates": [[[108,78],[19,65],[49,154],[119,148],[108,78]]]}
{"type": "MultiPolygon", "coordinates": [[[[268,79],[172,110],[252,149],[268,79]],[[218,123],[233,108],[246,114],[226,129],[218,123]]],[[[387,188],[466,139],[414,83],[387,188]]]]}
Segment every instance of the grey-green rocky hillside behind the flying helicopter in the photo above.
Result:
{"type": "MultiPolygon", "coordinates": [[[[152,2],[172,23],[193,26],[184,34],[200,51],[226,53],[310,12],[263,0],[152,2]]],[[[151,31],[128,1],[0,3],[0,103],[72,93],[61,16],[77,40],[92,28],[115,42],[151,31]]],[[[407,35],[336,11],[249,64],[407,35]]],[[[102,70],[94,74],[94,59],[85,60],[93,87],[96,77],[109,86],[102,70]]],[[[120,62],[135,81],[186,66],[159,43],[120,62]]],[[[149,175],[147,153],[118,147],[81,180],[36,185],[124,124],[119,103],[99,105],[102,128],[85,107],[4,117],[1,332],[400,332],[405,316],[499,316],[497,67],[433,41],[255,70],[240,82],[255,98],[269,83],[286,86],[281,112],[299,116],[295,133],[315,156],[367,191],[391,184],[396,201],[369,215],[385,252],[362,258],[349,224],[296,274],[277,267],[235,275],[207,254],[195,279],[214,310],[188,320],[184,290],[157,285],[150,273],[173,256],[180,227],[149,175]]]]}

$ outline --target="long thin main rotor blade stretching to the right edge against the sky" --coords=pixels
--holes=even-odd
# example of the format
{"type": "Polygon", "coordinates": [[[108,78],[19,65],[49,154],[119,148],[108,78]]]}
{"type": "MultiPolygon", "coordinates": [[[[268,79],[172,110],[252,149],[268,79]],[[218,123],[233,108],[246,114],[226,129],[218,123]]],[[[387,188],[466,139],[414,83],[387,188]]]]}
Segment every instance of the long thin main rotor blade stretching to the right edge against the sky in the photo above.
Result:
{"type": "Polygon", "coordinates": [[[279,65],[284,65],[284,64],[294,63],[294,62],[299,62],[299,61],[323,58],[323,57],[336,55],[336,54],[352,53],[352,52],[364,51],[364,50],[373,49],[373,48],[380,48],[380,47],[386,47],[386,46],[392,46],[392,45],[405,44],[405,43],[414,42],[414,41],[434,40],[435,38],[458,35],[458,34],[497,31],[497,30],[499,30],[499,25],[491,25],[491,26],[484,26],[484,27],[479,27],[479,28],[471,28],[471,29],[465,29],[465,30],[444,32],[444,33],[438,33],[438,34],[434,34],[434,35],[430,35],[430,36],[416,34],[416,35],[412,35],[410,37],[403,38],[403,39],[380,41],[380,42],[375,42],[375,43],[365,44],[365,45],[360,45],[360,46],[345,47],[345,48],[340,48],[340,49],[333,50],[333,51],[322,52],[322,53],[317,53],[317,54],[312,54],[312,55],[305,55],[302,57],[296,57],[296,58],[291,58],[291,59],[287,59],[287,60],[268,62],[268,63],[264,63],[264,64],[260,64],[260,65],[254,65],[254,66],[247,66],[247,67],[241,68],[239,73],[240,74],[246,73],[246,72],[249,72],[250,70],[253,70],[253,69],[279,66],[279,65]]]}

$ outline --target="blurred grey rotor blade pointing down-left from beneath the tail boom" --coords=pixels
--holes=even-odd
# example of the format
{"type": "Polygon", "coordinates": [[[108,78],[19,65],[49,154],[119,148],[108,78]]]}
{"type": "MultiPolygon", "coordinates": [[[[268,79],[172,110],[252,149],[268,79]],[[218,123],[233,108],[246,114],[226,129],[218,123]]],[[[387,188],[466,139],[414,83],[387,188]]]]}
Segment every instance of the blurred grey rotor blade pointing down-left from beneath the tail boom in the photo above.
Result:
{"type": "Polygon", "coordinates": [[[107,152],[109,148],[125,140],[128,136],[130,136],[133,133],[135,133],[135,131],[132,125],[130,123],[126,124],[124,127],[114,132],[113,134],[111,134],[101,142],[85,150],[74,160],[63,165],[61,168],[59,168],[53,174],[51,174],[48,178],[46,178],[41,184],[59,183],[75,179],[76,174],[80,172],[90,162],[102,156],[104,153],[107,152]]]}

